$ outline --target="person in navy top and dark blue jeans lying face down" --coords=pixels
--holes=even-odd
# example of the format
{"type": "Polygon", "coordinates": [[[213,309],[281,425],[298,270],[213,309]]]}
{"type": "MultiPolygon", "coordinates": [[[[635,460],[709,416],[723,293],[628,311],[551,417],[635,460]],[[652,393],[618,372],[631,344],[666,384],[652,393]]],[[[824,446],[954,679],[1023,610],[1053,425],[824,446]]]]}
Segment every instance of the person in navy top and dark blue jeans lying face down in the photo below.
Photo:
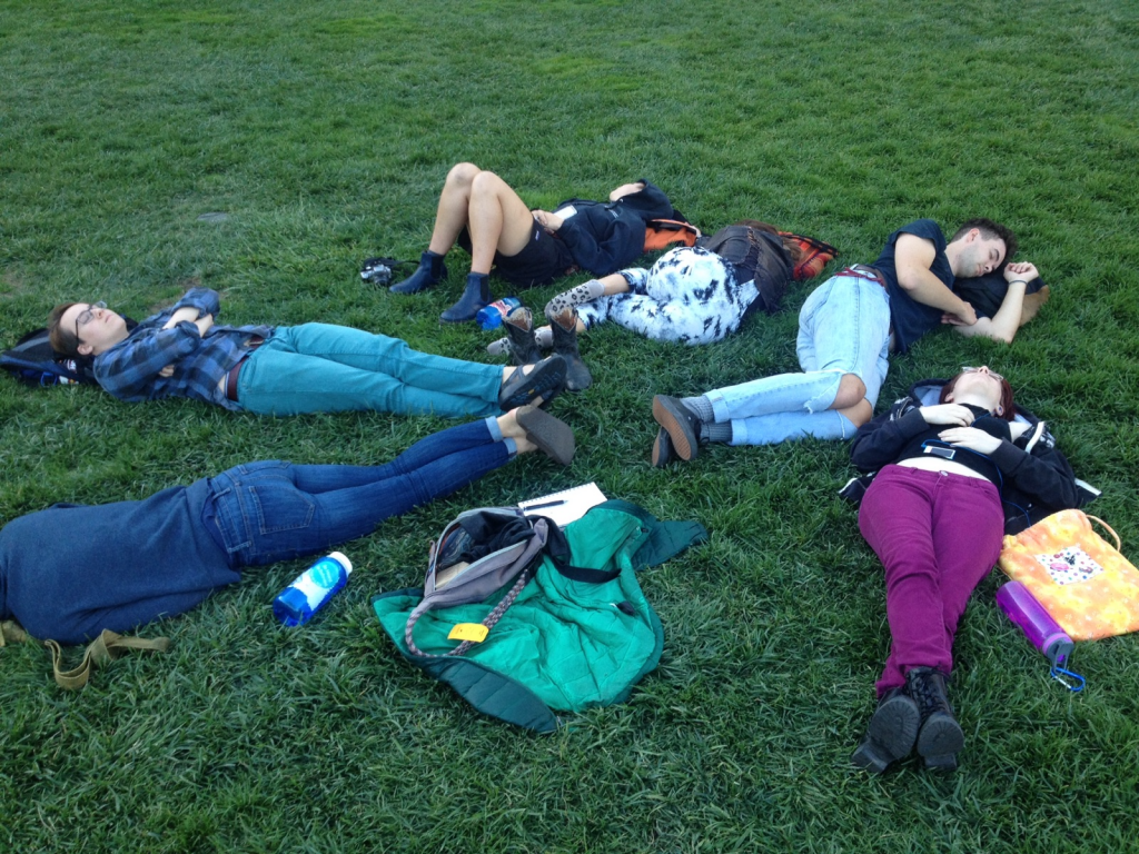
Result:
{"type": "Polygon", "coordinates": [[[573,432],[535,405],[420,440],[383,466],[251,462],[141,501],[57,504],[0,529],[0,619],[83,643],[181,614],[244,567],[328,551],[573,432]]]}

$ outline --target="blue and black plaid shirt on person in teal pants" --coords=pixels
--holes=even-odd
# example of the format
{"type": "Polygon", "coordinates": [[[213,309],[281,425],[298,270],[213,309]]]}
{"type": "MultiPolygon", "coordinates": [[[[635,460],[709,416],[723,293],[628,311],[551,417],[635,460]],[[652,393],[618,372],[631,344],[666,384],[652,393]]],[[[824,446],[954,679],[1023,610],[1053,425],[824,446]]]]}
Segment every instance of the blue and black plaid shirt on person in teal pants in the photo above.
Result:
{"type": "Polygon", "coordinates": [[[95,377],[103,388],[123,401],[154,401],[161,397],[194,397],[230,410],[241,408],[218,387],[230,368],[247,352],[253,336],[268,338],[270,326],[213,326],[203,338],[197,326],[182,321],[163,329],[179,309],[194,307],[198,317],[218,315],[221,303],[210,288],[188,290],[173,307],[147,318],[125,340],[95,359],[95,377]],[[170,377],[159,376],[167,364],[170,377]]]}

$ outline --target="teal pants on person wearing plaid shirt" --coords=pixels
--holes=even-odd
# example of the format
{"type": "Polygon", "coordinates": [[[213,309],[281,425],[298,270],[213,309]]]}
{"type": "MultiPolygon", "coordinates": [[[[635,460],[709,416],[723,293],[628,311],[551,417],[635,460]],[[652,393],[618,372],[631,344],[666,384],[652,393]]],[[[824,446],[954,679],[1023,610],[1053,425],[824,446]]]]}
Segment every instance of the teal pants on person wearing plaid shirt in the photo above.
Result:
{"type": "Polygon", "coordinates": [[[375,410],[461,418],[498,414],[502,368],[419,353],[386,335],[328,323],[277,327],[237,377],[262,416],[375,410]]]}

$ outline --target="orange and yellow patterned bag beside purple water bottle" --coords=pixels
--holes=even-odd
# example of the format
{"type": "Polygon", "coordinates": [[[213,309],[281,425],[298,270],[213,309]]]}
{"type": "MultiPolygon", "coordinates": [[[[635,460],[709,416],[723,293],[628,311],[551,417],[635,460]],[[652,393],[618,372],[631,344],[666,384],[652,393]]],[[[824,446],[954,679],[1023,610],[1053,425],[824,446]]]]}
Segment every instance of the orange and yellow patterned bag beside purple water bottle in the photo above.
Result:
{"type": "Polygon", "coordinates": [[[1103,519],[1062,510],[1006,536],[1000,568],[1029,588],[1072,640],[1109,638],[1139,630],[1139,572],[1118,548],[1118,534],[1103,519]],[[1111,533],[1115,548],[1091,520],[1111,533]]]}

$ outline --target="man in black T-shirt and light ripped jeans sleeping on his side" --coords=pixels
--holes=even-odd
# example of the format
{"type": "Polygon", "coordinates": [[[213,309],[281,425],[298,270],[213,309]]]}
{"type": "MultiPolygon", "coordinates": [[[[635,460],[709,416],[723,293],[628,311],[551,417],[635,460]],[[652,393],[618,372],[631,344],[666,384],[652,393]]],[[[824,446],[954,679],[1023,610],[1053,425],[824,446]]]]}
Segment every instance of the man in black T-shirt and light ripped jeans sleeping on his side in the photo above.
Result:
{"type": "Polygon", "coordinates": [[[850,438],[870,420],[886,379],[887,355],[904,353],[942,323],[964,335],[1011,342],[1035,313],[1025,310],[1029,263],[1005,268],[1008,290],[992,318],[978,318],[953,293],[960,279],[1000,268],[1016,252],[1013,232],[992,220],[969,220],[947,243],[933,220],[892,233],[874,266],[849,266],[806,298],[798,315],[802,373],[780,373],[698,397],[656,395],[659,425],[653,463],[691,460],[707,442],[767,445],[788,440],[850,438]]]}

